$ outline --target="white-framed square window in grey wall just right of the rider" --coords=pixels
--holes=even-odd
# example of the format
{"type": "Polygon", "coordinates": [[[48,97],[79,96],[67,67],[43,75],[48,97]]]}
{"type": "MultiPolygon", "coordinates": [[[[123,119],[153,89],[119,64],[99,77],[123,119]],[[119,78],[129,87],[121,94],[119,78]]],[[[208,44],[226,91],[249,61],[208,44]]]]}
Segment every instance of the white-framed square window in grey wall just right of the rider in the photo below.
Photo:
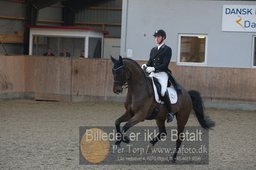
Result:
{"type": "Polygon", "coordinates": [[[178,35],[178,65],[205,66],[207,35],[178,35]]]}

